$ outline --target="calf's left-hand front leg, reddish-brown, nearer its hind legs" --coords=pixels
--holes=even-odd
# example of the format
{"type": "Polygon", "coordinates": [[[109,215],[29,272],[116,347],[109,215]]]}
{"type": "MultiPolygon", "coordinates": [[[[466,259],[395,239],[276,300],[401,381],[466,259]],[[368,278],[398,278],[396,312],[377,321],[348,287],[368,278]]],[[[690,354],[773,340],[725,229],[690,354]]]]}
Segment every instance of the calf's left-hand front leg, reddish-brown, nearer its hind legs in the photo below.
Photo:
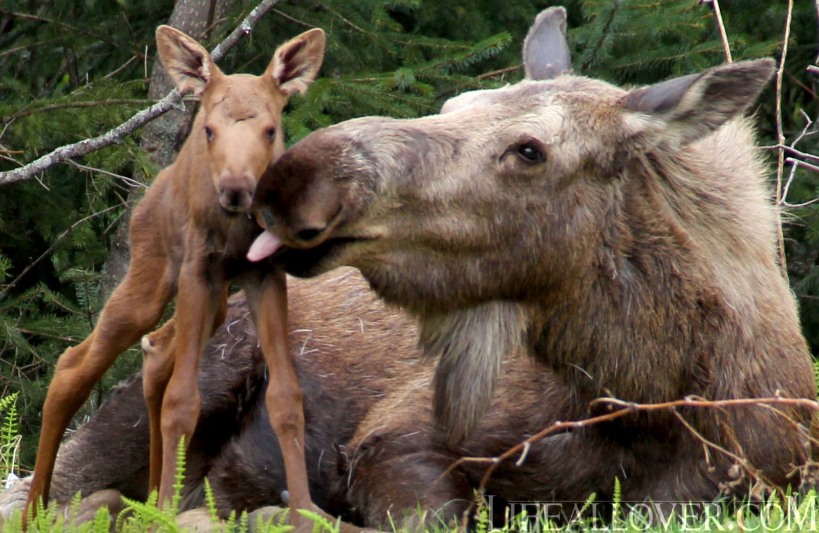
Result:
{"type": "MultiPolygon", "coordinates": [[[[159,506],[170,502],[174,492],[176,447],[184,436],[191,440],[199,418],[200,396],[197,368],[201,351],[213,331],[215,318],[224,309],[224,284],[206,281],[198,264],[183,264],[174,318],[173,370],[161,406],[161,477],[159,506]]],[[[162,377],[159,375],[158,377],[162,377]]],[[[161,387],[157,382],[154,386],[161,387]]]]}

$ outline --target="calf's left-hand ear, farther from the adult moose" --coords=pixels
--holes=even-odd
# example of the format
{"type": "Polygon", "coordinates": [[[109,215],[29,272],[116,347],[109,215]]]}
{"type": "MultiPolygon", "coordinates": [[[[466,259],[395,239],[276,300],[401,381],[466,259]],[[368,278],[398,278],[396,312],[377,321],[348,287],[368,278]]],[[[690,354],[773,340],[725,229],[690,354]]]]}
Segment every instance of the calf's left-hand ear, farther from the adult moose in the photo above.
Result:
{"type": "Polygon", "coordinates": [[[196,39],[179,29],[161,25],[156,29],[156,48],[162,66],[174,80],[179,93],[201,96],[207,84],[222,71],[196,39]]]}

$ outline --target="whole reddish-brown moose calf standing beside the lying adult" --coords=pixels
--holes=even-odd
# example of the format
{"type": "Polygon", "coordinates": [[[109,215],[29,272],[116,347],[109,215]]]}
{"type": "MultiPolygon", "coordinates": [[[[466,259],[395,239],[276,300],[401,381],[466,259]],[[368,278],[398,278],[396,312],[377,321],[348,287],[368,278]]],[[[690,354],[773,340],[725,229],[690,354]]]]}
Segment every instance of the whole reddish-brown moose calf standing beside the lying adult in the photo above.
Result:
{"type": "Polygon", "coordinates": [[[232,279],[247,292],[272,376],[269,419],[282,443],[292,504],[310,505],[301,391],[285,338],[284,274],[274,268],[262,272],[244,255],[259,231],[247,215],[256,182],[283,153],[283,107],[318,74],[324,42],[324,32],[312,29],[278,47],[264,75],[224,75],[194,39],[169,26],[156,29],[162,64],[180,93],[201,98],[201,110],[174,164],[156,177],[133,211],[131,263],[124,280],[91,335],[57,362],[43,407],[28,505],[40,497],[48,500],[57,446],[93,384],[156,325],[178,294],[177,313],[156,333],[175,332],[173,350],[157,351],[144,365],[149,486],[159,487],[160,502],[170,496],[175,446],[181,436],[190,440],[200,408],[196,369],[201,349],[224,320],[232,279]]]}

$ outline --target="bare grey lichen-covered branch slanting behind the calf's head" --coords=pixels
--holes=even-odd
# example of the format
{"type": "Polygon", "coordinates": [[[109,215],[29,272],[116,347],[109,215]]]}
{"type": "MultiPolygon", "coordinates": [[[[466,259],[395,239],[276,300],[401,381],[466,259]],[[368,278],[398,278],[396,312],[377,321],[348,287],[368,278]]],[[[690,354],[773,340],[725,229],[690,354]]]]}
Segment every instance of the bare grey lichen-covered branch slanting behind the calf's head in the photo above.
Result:
{"type": "MultiPolygon", "coordinates": [[[[261,16],[264,16],[265,13],[273,9],[278,2],[281,2],[281,0],[263,0],[263,2],[260,2],[259,5],[254,7],[247,17],[245,17],[245,19],[242,20],[242,22],[236,27],[236,29],[234,29],[233,32],[231,32],[231,34],[224,39],[224,41],[217,44],[213,49],[213,52],[210,53],[210,55],[213,56],[214,61],[219,61],[219,59],[221,59],[231,47],[238,43],[239,39],[250,34],[253,30],[253,26],[256,25],[256,21],[259,20],[261,16]]],[[[179,91],[174,88],[173,91],[168,93],[153,106],[143,109],[143,111],[139,111],[129,120],[126,120],[124,123],[107,131],[106,133],[102,133],[102,135],[84,139],[82,141],[75,142],[74,144],[66,144],[65,146],[61,146],[49,152],[45,156],[30,162],[28,165],[13,170],[7,170],[6,172],[0,172],[0,185],[17,183],[25,179],[34,178],[34,176],[43,172],[43,170],[48,169],[53,165],[62,163],[67,159],[84,156],[92,151],[97,151],[101,148],[110,146],[115,142],[121,142],[127,135],[143,127],[151,120],[154,120],[156,117],[163,115],[171,109],[174,109],[174,107],[181,105],[182,98],[179,97],[179,91]]]]}

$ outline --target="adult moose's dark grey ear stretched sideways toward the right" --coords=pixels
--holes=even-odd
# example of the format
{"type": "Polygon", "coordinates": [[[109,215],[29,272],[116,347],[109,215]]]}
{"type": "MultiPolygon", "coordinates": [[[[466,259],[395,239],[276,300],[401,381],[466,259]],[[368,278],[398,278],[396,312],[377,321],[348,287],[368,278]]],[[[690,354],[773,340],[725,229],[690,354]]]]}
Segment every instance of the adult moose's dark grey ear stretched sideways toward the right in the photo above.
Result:
{"type": "MultiPolygon", "coordinates": [[[[720,65],[698,75],[635,89],[623,97],[622,106],[659,119],[661,137],[684,145],[744,113],[756,101],[774,70],[776,65],[772,59],[720,65]]],[[[632,123],[632,129],[644,129],[639,122],[632,123]]]]}

